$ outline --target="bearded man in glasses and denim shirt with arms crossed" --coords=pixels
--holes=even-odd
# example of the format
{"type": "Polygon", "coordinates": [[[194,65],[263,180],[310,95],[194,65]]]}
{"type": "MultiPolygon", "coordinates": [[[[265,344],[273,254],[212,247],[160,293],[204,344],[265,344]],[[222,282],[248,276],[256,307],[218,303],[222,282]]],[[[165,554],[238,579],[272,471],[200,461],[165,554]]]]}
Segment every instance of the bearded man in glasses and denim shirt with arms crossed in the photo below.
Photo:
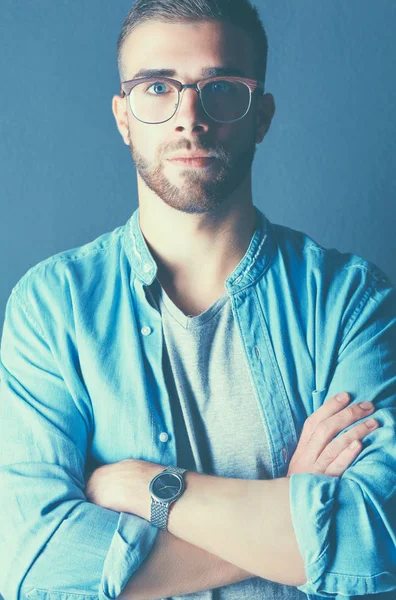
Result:
{"type": "Polygon", "coordinates": [[[395,593],[395,291],[254,206],[265,53],[245,1],[127,16],[139,209],[7,304],[7,600],[395,593]]]}

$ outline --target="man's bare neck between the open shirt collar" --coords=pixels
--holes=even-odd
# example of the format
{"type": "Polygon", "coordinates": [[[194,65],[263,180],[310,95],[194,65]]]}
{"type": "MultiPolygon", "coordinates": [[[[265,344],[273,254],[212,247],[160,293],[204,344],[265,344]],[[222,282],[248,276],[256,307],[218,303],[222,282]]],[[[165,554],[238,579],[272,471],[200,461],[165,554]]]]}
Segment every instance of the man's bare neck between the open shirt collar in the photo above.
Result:
{"type": "Polygon", "coordinates": [[[159,280],[174,289],[189,282],[194,287],[202,284],[203,289],[224,289],[257,225],[251,193],[243,202],[226,201],[216,212],[205,214],[176,210],[155,196],[140,203],[139,222],[159,280]]]}

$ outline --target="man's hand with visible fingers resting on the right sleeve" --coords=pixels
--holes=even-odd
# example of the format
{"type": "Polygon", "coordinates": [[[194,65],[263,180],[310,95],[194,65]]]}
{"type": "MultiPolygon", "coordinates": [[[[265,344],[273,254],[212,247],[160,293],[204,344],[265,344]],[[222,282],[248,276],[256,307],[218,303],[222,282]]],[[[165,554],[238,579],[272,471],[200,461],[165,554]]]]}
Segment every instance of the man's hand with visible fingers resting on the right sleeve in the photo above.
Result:
{"type": "Polygon", "coordinates": [[[374,431],[379,423],[375,421],[371,429],[365,422],[359,423],[333,440],[348,425],[374,411],[373,405],[370,410],[364,410],[359,404],[351,404],[345,408],[349,400],[349,394],[337,394],[326,400],[306,419],[287,477],[293,473],[321,473],[340,477],[352,464],[362,449],[360,440],[374,431]],[[337,397],[344,400],[338,402],[337,397]],[[357,446],[351,448],[354,440],[357,440],[357,446]]]}

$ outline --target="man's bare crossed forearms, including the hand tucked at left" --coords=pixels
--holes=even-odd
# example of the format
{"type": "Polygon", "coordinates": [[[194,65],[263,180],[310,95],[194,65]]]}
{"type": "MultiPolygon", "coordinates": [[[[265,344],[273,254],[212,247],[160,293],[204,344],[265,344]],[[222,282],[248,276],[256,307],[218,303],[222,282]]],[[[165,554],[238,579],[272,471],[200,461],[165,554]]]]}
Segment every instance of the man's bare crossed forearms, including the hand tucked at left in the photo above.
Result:
{"type": "MultiPolygon", "coordinates": [[[[150,520],[149,482],[163,468],[136,459],[105,465],[90,480],[87,495],[105,508],[150,520]]],[[[185,483],[170,509],[168,532],[160,532],[119,600],[192,593],[254,576],[286,585],[305,582],[288,478],[256,481],[188,471],[185,483]]]]}

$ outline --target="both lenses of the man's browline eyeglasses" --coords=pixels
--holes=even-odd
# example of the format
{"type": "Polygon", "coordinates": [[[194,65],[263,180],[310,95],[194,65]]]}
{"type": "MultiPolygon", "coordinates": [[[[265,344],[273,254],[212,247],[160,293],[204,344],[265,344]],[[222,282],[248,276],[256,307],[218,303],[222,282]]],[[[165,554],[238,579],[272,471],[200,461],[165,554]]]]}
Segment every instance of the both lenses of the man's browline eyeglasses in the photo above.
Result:
{"type": "MultiPolygon", "coordinates": [[[[136,85],[130,93],[131,110],[146,123],[161,123],[176,112],[179,91],[169,81],[152,79],[136,85]]],[[[201,90],[205,112],[215,121],[229,123],[242,118],[250,106],[250,89],[242,82],[217,79],[201,90]]]]}

